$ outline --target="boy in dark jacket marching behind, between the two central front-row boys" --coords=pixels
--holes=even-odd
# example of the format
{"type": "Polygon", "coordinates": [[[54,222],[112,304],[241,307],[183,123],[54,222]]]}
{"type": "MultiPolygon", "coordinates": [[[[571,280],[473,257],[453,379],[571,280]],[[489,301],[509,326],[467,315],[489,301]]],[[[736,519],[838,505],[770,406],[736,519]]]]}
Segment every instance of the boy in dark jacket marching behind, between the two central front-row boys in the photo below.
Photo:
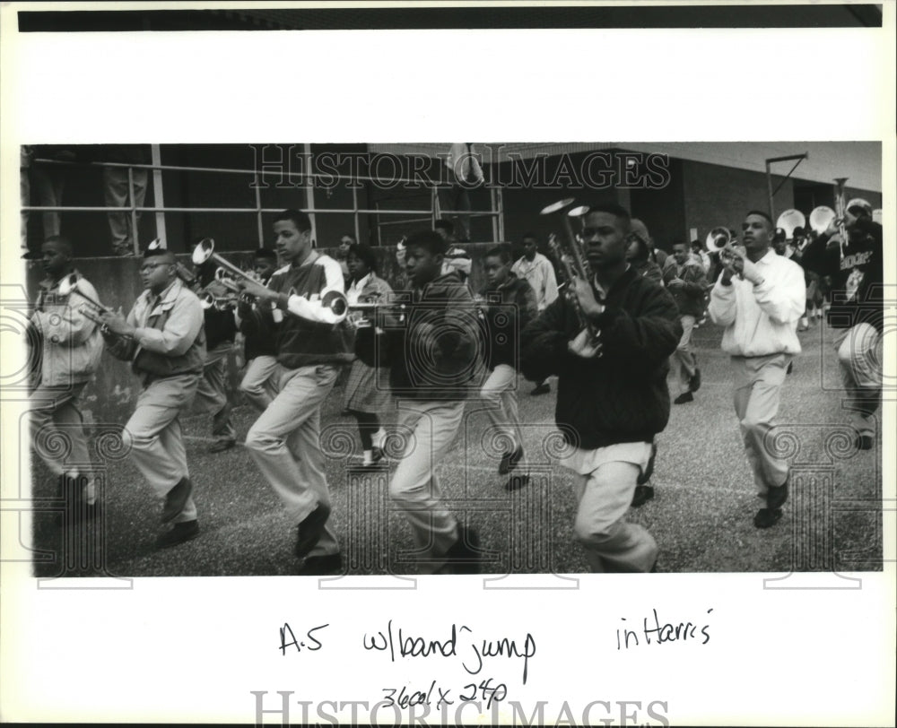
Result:
{"type": "MultiPolygon", "coordinates": [[[[486,414],[492,427],[509,446],[499,464],[501,475],[515,470],[523,461],[523,433],[517,408],[518,331],[538,315],[536,294],[529,283],[510,272],[511,262],[507,247],[493,247],[486,253],[483,267],[488,284],[480,292],[486,319],[486,368],[492,370],[480,397],[488,405],[486,414]],[[491,305],[496,295],[501,305],[491,305]],[[499,316],[506,319],[504,325],[498,325],[499,316]]],[[[528,481],[528,475],[511,476],[505,487],[516,490],[528,481]]]]}

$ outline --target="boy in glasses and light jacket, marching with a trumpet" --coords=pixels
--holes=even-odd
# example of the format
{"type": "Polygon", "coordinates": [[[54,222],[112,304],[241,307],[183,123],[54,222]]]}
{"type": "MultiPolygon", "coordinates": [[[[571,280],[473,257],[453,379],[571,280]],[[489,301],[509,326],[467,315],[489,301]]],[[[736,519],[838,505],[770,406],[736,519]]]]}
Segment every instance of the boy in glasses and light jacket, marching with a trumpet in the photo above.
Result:
{"type": "Polygon", "coordinates": [[[199,535],[193,482],[181,436],[180,414],[188,411],[203,374],[203,308],[181,282],[173,253],[147,249],[140,268],[144,292],[127,318],[102,316],[109,352],[130,361],[143,389],[124,438],[135,465],[162,503],[156,546],[164,549],[199,535]]]}

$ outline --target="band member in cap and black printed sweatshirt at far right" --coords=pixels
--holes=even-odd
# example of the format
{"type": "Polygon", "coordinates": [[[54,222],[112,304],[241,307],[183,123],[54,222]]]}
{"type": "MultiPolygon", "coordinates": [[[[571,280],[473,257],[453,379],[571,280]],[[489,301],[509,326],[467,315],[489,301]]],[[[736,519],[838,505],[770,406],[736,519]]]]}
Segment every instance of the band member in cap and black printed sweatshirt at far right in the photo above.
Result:
{"type": "Polygon", "coordinates": [[[872,206],[850,200],[844,226],[847,241],[828,246],[838,230],[828,229],[804,249],[803,264],[820,276],[832,277],[832,306],[828,322],[840,329],[834,345],[849,409],[856,446],[869,450],[875,444],[875,412],[882,391],[882,331],[884,328],[884,231],[872,219],[872,206]]]}

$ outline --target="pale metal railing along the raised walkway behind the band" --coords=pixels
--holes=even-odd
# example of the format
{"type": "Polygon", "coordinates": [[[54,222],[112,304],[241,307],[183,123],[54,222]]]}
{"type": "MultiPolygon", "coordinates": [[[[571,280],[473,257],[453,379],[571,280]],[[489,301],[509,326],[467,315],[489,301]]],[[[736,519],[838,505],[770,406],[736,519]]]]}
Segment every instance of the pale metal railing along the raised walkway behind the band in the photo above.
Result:
{"type": "MultiPolygon", "coordinates": [[[[309,180],[311,179],[320,179],[325,178],[327,180],[331,179],[349,179],[353,181],[365,181],[365,182],[379,182],[382,181],[383,178],[370,177],[367,175],[340,175],[340,174],[317,174],[313,172],[290,172],[283,169],[230,169],[230,168],[222,168],[222,167],[185,167],[182,165],[171,165],[171,164],[135,164],[135,163],[124,163],[124,162],[72,162],[67,160],[45,160],[45,159],[34,159],[31,160],[31,164],[45,164],[45,165],[54,165],[54,166],[63,166],[63,167],[89,167],[89,168],[118,168],[118,169],[127,169],[127,190],[128,190],[128,200],[130,204],[123,205],[120,207],[109,207],[109,206],[97,206],[97,205],[59,205],[59,206],[43,206],[43,205],[22,205],[22,212],[107,212],[107,213],[117,213],[122,214],[126,213],[130,216],[131,221],[131,230],[132,230],[132,238],[133,238],[133,247],[135,255],[139,255],[140,253],[140,242],[138,239],[138,216],[142,212],[156,212],[157,213],[157,233],[161,228],[161,235],[164,235],[164,222],[165,222],[165,213],[166,212],[212,212],[212,213],[245,213],[245,214],[253,214],[256,216],[257,220],[257,234],[258,234],[258,247],[265,247],[265,229],[262,221],[262,216],[266,213],[276,213],[283,212],[282,207],[263,207],[262,206],[262,194],[261,191],[265,187],[261,186],[260,179],[265,177],[266,175],[275,175],[280,178],[299,178],[303,180],[302,186],[306,188],[308,191],[311,189],[309,184],[309,180]],[[253,207],[172,207],[165,205],[164,202],[161,205],[137,205],[135,204],[135,186],[134,186],[134,170],[135,169],[147,169],[152,170],[153,173],[159,172],[198,172],[198,173],[211,173],[211,174],[231,174],[231,175],[244,175],[248,177],[252,177],[254,182],[250,188],[255,190],[255,205],[253,207]],[[161,214],[161,221],[159,219],[159,214],[161,214]]],[[[421,179],[408,179],[408,178],[390,178],[390,182],[393,183],[411,183],[415,185],[421,184],[421,179]]],[[[464,215],[466,218],[471,219],[475,217],[490,217],[492,218],[492,236],[495,240],[501,240],[504,238],[504,211],[502,205],[501,198],[501,187],[499,186],[488,186],[483,185],[489,188],[490,190],[490,210],[470,210],[470,211],[444,211],[448,214],[453,215],[464,215]]],[[[160,199],[164,199],[161,194],[161,175],[158,179],[158,189],[157,197],[160,199]]],[[[417,208],[413,210],[409,209],[384,209],[384,208],[367,208],[360,207],[358,200],[358,188],[352,187],[352,198],[353,198],[353,206],[351,208],[317,208],[317,207],[305,207],[303,208],[304,212],[309,214],[309,218],[311,219],[312,226],[312,238],[317,238],[317,226],[316,226],[316,216],[321,215],[329,215],[329,214],[351,214],[353,215],[354,221],[354,229],[355,229],[355,239],[360,238],[361,227],[359,224],[359,219],[362,214],[368,215],[415,215],[419,216],[417,219],[423,221],[426,219],[426,216],[429,215],[432,223],[435,223],[437,220],[437,212],[439,210],[439,195],[437,186],[432,186],[430,188],[430,207],[429,208],[417,208]]],[[[388,225],[390,221],[383,221],[376,223],[378,230],[381,224],[388,225]]],[[[379,241],[379,232],[377,235],[377,239],[379,241]]]]}

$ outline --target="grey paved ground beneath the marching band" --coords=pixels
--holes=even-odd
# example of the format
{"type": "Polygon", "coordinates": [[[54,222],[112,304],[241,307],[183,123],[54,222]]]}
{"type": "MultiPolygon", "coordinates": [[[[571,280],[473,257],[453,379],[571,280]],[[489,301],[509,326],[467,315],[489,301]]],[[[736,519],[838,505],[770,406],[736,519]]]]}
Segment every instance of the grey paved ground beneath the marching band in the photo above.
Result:
{"type": "MultiPolygon", "coordinates": [[[[824,335],[830,337],[831,330],[824,335]]],[[[719,350],[720,330],[695,333],[703,385],[695,401],[673,407],[658,437],[654,474],[657,496],[631,520],[645,525],[660,546],[659,571],[743,572],[879,570],[882,555],[881,442],[856,453],[844,447],[846,421],[840,410],[837,362],[814,327],[801,334],[805,353],[788,377],[781,407],[783,446],[796,473],[782,521],[768,531],[754,528],[762,504],[737,433],[728,361],[719,350]],[[795,538],[797,534],[797,538],[795,538]]],[[[481,533],[486,571],[575,573],[587,571],[573,542],[575,503],[568,472],[552,466],[554,394],[532,397],[520,381],[520,412],[533,482],[509,494],[496,470],[496,455],[483,438],[485,417],[468,405],[464,428],[445,461],[440,482],[450,507],[481,533]]],[[[327,401],[323,416],[327,475],[333,493],[331,523],[344,547],[346,571],[407,573],[403,551],[411,540],[404,520],[385,498],[388,472],[354,471],[360,457],[353,421],[342,415],[342,390],[327,401]],[[344,433],[348,433],[346,437],[344,433]]],[[[238,437],[254,419],[248,407],[235,412],[238,437]]],[[[157,506],[148,486],[127,460],[110,461],[104,517],[96,524],[60,529],[53,514],[34,518],[39,576],[107,573],[117,576],[289,575],[294,528],[246,450],[206,452],[210,422],[185,420],[187,451],[196,481],[203,533],[193,542],[157,551],[153,547],[157,506]],[[68,538],[63,539],[63,533],[68,538]],[[85,544],[90,544],[89,547],[85,544]],[[42,559],[47,560],[42,560],[42,559]],[[69,563],[66,565],[65,561],[69,563]],[[83,561],[83,563],[74,563],[83,561]]],[[[37,498],[51,498],[55,483],[35,467],[37,498]]]]}

